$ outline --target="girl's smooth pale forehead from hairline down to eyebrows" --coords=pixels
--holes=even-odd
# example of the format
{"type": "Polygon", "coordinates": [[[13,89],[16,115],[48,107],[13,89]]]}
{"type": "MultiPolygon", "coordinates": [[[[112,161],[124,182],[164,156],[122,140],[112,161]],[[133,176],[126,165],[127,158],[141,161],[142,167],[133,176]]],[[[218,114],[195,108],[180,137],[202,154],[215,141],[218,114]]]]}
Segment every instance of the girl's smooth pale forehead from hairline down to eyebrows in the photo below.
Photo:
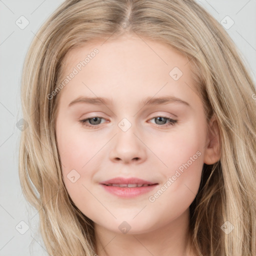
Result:
{"type": "Polygon", "coordinates": [[[71,49],[63,63],[62,80],[72,70],[77,71],[61,91],[66,91],[69,98],[88,94],[141,98],[166,93],[183,98],[198,97],[198,93],[190,95],[196,94],[196,88],[188,59],[170,45],[136,35],[88,41],[71,49]]]}

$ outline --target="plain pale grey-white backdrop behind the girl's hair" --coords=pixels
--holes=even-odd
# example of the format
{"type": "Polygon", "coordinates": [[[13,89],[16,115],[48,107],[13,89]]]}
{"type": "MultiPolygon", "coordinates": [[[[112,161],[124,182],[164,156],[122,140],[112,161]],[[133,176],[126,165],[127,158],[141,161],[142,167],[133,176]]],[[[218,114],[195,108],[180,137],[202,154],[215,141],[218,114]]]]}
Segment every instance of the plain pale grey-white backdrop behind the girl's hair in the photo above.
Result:
{"type": "MultiPolygon", "coordinates": [[[[37,29],[61,2],[63,0],[0,0],[1,256],[48,255],[41,237],[35,233],[38,214],[21,194],[17,167],[21,131],[16,123],[22,117],[19,92],[25,54],[37,29]],[[15,23],[22,15],[29,21],[24,29],[15,23]],[[24,231],[24,234],[20,233],[24,231]]],[[[256,0],[198,2],[219,22],[226,15],[234,21],[233,26],[226,30],[244,56],[245,64],[256,81],[256,0]]]]}

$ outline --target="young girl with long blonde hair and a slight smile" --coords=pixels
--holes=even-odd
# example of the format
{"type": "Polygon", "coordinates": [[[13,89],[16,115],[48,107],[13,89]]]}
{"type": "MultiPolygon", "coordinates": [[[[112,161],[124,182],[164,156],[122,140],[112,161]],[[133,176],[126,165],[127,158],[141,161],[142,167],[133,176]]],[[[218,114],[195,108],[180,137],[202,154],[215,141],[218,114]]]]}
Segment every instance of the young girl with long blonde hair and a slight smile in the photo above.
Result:
{"type": "Polygon", "coordinates": [[[66,0],[21,85],[19,177],[48,253],[256,255],[255,98],[193,0],[66,0]]]}

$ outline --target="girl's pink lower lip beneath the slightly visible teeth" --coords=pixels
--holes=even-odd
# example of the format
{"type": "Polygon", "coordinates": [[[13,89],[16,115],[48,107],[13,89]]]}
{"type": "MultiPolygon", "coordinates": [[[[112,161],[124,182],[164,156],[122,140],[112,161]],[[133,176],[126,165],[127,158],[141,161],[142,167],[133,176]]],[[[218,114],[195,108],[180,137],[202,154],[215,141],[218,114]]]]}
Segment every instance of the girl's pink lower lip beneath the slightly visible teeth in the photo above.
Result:
{"type": "Polygon", "coordinates": [[[119,186],[108,186],[103,185],[106,191],[108,191],[111,194],[120,196],[120,197],[134,197],[138,196],[144,193],[148,193],[152,189],[154,189],[157,184],[149,185],[149,186],[140,186],[140,187],[119,187],[119,186]]]}

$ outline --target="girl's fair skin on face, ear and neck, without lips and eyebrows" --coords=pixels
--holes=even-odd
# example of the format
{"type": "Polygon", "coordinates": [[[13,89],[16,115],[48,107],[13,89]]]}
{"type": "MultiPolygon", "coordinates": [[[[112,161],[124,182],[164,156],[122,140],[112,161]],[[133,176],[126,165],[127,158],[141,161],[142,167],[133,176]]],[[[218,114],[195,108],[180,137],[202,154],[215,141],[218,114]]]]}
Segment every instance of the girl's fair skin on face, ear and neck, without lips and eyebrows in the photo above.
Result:
{"type": "Polygon", "coordinates": [[[99,256],[195,255],[189,251],[189,205],[198,191],[203,163],[217,162],[220,154],[216,127],[212,119],[207,128],[189,63],[170,46],[136,34],[102,43],[91,41],[64,59],[63,77],[94,48],[99,50],[58,95],[55,128],[66,189],[94,222],[99,256]],[[183,73],[177,80],[169,74],[174,67],[183,73]],[[79,96],[105,97],[112,104],[68,106],[79,96]],[[141,104],[146,97],[162,96],[180,98],[189,106],[177,101],[141,104]],[[80,122],[92,117],[101,118],[87,119],[90,127],[80,122]],[[167,125],[168,119],[157,117],[177,122],[167,125]],[[131,124],[126,131],[118,126],[123,118],[131,124]],[[168,178],[184,163],[189,166],[150,201],[149,196],[164,184],[166,188],[168,178]],[[75,182],[67,177],[72,169],[80,175],[75,182]],[[149,193],[121,198],[99,184],[117,176],[158,185],[149,193]],[[123,221],[131,227],[127,233],[118,228],[123,221]]]}

